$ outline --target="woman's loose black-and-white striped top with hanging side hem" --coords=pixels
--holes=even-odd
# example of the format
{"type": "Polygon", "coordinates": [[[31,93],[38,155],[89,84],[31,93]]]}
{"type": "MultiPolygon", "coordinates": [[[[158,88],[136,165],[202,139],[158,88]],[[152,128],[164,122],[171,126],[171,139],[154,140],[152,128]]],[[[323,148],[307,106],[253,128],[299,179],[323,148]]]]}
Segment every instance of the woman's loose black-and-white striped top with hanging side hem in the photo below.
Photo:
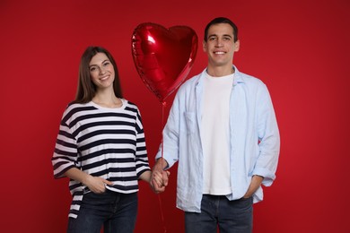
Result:
{"type": "MultiPolygon", "coordinates": [[[[122,99],[121,108],[102,108],[89,102],[69,104],[62,116],[52,157],[54,177],[65,177],[69,168],[79,168],[111,182],[111,191],[138,191],[138,177],[150,170],[144,127],[135,104],[122,99]]],[[[73,195],[69,217],[76,218],[86,186],[70,180],[73,195]]]]}

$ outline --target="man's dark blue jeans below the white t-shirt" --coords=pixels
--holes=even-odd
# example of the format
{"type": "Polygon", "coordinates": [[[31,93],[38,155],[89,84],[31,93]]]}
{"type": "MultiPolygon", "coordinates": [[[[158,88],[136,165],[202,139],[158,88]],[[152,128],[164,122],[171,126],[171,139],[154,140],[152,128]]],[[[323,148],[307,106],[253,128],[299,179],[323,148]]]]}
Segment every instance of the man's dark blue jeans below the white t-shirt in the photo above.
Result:
{"type": "Polygon", "coordinates": [[[201,212],[185,212],[187,233],[250,233],[253,198],[229,201],[224,195],[204,194],[201,212]]]}

